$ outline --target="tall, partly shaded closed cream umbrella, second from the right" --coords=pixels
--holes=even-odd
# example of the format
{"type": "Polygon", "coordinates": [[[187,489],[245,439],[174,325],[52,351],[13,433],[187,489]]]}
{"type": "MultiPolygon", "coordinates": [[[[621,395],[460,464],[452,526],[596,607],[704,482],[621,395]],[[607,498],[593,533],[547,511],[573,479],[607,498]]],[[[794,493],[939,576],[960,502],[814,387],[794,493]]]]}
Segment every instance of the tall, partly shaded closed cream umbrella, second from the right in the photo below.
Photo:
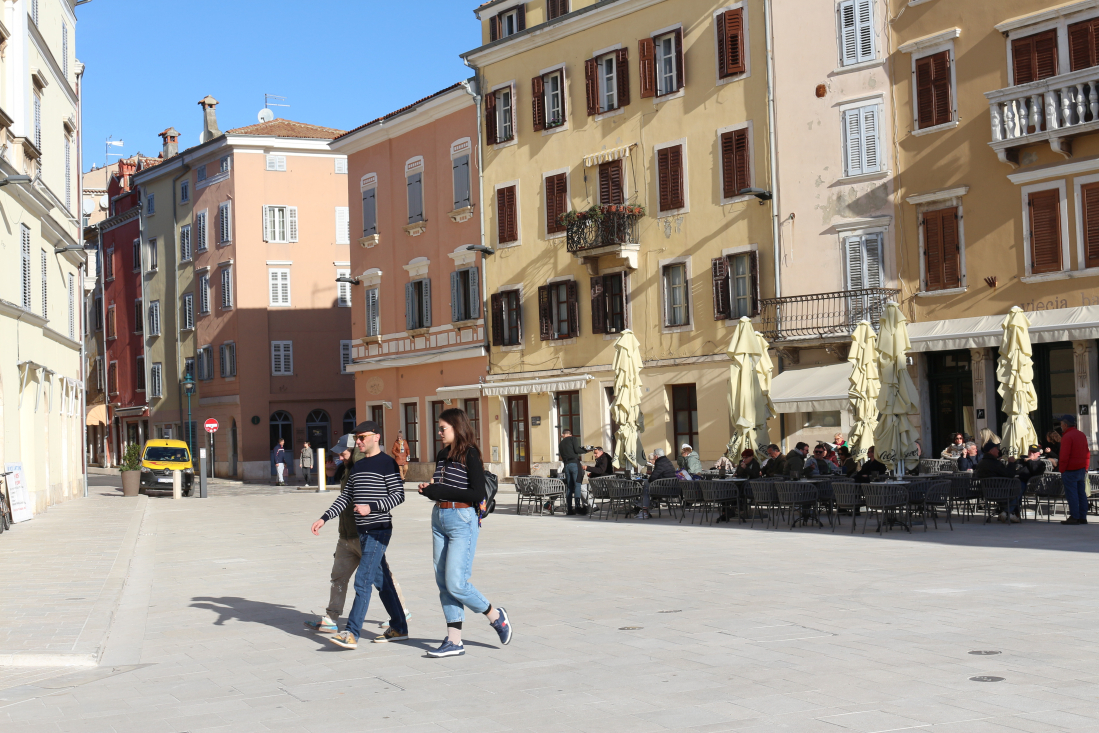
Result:
{"type": "Polygon", "coordinates": [[[874,454],[889,468],[903,474],[920,463],[919,435],[909,415],[918,411],[918,397],[908,374],[908,320],[897,303],[887,303],[878,330],[878,425],[874,429],[874,454]]]}

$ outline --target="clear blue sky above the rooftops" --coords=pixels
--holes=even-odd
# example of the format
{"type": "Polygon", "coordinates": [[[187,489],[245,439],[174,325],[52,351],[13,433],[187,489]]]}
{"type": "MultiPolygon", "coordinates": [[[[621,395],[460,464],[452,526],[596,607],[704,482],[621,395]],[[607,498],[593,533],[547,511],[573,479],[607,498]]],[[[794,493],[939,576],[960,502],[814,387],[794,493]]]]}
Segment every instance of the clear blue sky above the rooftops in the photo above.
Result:
{"type": "Polygon", "coordinates": [[[198,144],[207,95],[222,130],[255,123],[264,92],[288,98],[279,118],[363,124],[471,76],[458,54],[480,42],[478,2],[92,0],[77,9],[84,168],[108,135],[126,155],[157,155],[168,126],[198,144]]]}

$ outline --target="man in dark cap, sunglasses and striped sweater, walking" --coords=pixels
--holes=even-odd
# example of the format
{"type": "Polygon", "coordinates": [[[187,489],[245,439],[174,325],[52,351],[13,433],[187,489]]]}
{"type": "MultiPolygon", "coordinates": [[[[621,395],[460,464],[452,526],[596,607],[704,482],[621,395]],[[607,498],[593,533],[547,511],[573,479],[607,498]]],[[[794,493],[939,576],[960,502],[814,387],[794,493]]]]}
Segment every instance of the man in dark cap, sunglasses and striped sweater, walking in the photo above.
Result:
{"type": "Polygon", "coordinates": [[[355,573],[355,602],[344,630],[331,637],[333,644],[345,649],[358,646],[363,621],[370,606],[370,587],[379,580],[381,589],[378,597],[389,613],[389,626],[398,632],[387,641],[408,638],[404,608],[389,566],[382,563],[393,535],[393,520],[389,512],[404,501],[404,484],[397,462],[381,452],[380,440],[381,427],[373,420],[355,426],[355,447],[362,451],[363,457],[352,467],[351,476],[332,507],[312,526],[313,534],[319,534],[325,522],[354,506],[355,530],[362,551],[355,573]]]}

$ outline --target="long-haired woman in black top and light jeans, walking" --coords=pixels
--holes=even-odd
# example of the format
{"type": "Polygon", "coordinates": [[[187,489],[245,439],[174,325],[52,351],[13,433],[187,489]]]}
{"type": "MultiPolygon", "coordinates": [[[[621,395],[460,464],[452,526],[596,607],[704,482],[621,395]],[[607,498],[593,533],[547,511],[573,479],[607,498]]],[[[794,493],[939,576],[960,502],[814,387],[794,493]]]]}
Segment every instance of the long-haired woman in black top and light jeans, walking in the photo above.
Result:
{"type": "Polygon", "coordinates": [[[466,608],[482,613],[504,645],[511,643],[511,622],[507,611],[489,603],[469,582],[487,495],[485,464],[465,411],[444,410],[439,415],[439,436],[443,448],[435,456],[435,475],[430,484],[420,485],[420,493],[435,502],[431,534],[446,638],[428,656],[452,657],[466,653],[462,643],[466,608]]]}

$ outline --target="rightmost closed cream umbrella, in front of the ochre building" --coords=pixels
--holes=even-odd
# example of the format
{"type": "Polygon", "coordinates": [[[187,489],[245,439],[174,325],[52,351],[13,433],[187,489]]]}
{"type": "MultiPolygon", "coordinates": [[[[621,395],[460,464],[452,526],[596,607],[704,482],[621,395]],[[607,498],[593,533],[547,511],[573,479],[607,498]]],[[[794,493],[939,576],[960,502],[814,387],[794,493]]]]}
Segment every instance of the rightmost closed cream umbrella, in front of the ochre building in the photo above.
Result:
{"type": "Polygon", "coordinates": [[[1003,341],[1000,342],[1000,358],[996,360],[996,379],[1000,382],[997,391],[1003,398],[1003,412],[1008,415],[1000,445],[1004,456],[1024,456],[1026,446],[1037,443],[1037,433],[1030,420],[1030,413],[1037,410],[1030,321],[1023,309],[1013,306],[1000,327],[1003,341]]]}

